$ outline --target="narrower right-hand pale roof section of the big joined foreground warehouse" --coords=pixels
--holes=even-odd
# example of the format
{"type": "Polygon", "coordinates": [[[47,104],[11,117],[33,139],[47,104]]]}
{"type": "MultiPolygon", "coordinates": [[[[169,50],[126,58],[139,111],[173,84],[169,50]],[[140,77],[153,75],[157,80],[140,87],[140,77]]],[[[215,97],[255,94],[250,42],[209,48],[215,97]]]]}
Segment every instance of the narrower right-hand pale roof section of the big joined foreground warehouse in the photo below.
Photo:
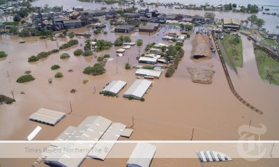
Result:
{"type": "MultiPolygon", "coordinates": [[[[117,141],[125,128],[126,125],[123,125],[119,122],[112,123],[102,138],[100,138],[100,141],[117,141]]],[[[110,150],[112,150],[114,144],[115,143],[96,143],[96,145],[94,145],[94,149],[100,151],[89,152],[88,157],[105,160],[105,157],[107,157],[107,154],[109,154],[110,150]]]]}

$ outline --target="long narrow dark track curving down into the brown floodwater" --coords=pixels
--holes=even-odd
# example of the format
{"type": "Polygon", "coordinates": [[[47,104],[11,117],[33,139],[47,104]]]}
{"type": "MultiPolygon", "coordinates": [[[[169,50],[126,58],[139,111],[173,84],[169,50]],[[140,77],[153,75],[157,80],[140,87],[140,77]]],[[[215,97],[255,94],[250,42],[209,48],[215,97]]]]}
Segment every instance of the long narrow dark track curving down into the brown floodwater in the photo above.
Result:
{"type": "Polygon", "coordinates": [[[256,113],[259,113],[259,114],[263,114],[264,112],[260,111],[259,109],[255,108],[255,106],[252,106],[251,104],[249,104],[248,102],[246,102],[246,100],[243,100],[243,98],[239,95],[239,93],[236,92],[236,90],[234,89],[234,85],[232,84],[232,79],[229,77],[229,72],[227,71],[227,66],[225,64],[225,61],[224,61],[224,58],[221,54],[221,51],[219,49],[219,46],[217,44],[217,41],[216,41],[216,36],[215,34],[213,33],[213,31],[211,31],[212,33],[212,36],[213,36],[213,40],[215,42],[215,45],[216,45],[216,48],[217,48],[217,51],[218,51],[218,54],[219,54],[219,57],[220,57],[220,61],[222,63],[222,66],[223,66],[223,69],[224,69],[224,72],[225,72],[225,75],[226,75],[226,78],[227,78],[227,82],[229,83],[229,88],[232,90],[232,93],[234,94],[234,96],[239,100],[241,101],[244,105],[248,106],[250,109],[252,109],[252,111],[255,111],[256,113]]]}

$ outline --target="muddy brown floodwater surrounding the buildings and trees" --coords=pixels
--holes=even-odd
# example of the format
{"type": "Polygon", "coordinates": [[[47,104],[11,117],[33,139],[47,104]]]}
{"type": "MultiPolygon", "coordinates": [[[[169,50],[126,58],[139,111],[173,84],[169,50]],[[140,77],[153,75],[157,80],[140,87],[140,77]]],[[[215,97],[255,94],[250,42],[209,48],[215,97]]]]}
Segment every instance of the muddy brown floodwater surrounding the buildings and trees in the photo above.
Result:
{"type": "MultiPolygon", "coordinates": [[[[93,35],[91,38],[105,39],[114,42],[119,33],[93,35]]],[[[79,33],[87,32],[88,29],[73,29],[79,33]]],[[[92,32],[92,31],[89,31],[92,32]]],[[[179,32],[177,29],[160,29],[157,34],[132,33],[130,38],[135,41],[141,38],[144,45],[140,47],[140,54],[143,53],[145,45],[149,42],[169,42],[161,40],[164,33],[179,32]]],[[[193,140],[238,140],[238,129],[241,125],[251,125],[259,127],[259,123],[266,125],[267,132],[261,136],[262,140],[278,140],[277,132],[279,118],[278,93],[279,86],[269,85],[262,81],[257,73],[255,56],[252,52],[252,43],[243,38],[243,68],[238,68],[238,74],[230,70],[232,81],[238,93],[252,105],[264,111],[259,115],[244,106],[234,97],[227,80],[223,67],[218,61],[217,56],[213,56],[208,61],[190,60],[192,49],[191,42],[195,34],[184,42],[183,49],[185,55],[179,63],[179,67],[172,78],[165,78],[164,74],[160,79],[155,79],[153,86],[144,96],[145,102],[137,100],[126,100],[123,93],[133,81],[135,81],[135,70],[125,70],[124,65],[128,61],[137,64],[136,57],[139,54],[139,47],[134,46],[126,51],[125,56],[116,57],[116,49],[112,47],[94,54],[93,56],[73,56],[73,51],[83,48],[84,38],[78,38],[82,46],[76,45],[52,54],[36,63],[28,63],[27,59],[31,55],[36,55],[40,51],[50,51],[58,48],[68,39],[56,41],[40,40],[38,38],[17,38],[1,35],[0,50],[6,51],[7,58],[0,60],[0,94],[11,97],[10,91],[15,93],[16,102],[11,105],[3,104],[0,106],[0,140],[22,140],[37,125],[43,127],[42,131],[34,140],[54,140],[63,129],[69,125],[77,126],[86,116],[100,115],[112,120],[122,122],[126,125],[132,124],[132,117],[135,117],[135,131],[133,135],[121,140],[190,140],[192,129],[195,128],[193,140]],[[20,41],[26,41],[20,44],[20,41]],[[61,60],[60,54],[66,52],[70,58],[61,60]],[[108,61],[105,65],[107,72],[101,76],[89,76],[82,71],[87,66],[96,63],[94,56],[110,54],[113,61],[108,61]],[[214,65],[211,70],[216,73],[213,75],[213,84],[195,84],[190,79],[187,67],[209,68],[208,63],[214,65]],[[61,66],[59,70],[50,70],[54,64],[61,66]],[[73,72],[68,72],[68,70],[73,72]],[[27,84],[18,84],[16,79],[30,70],[36,80],[27,84]],[[7,72],[9,77],[7,76],[7,72]],[[63,72],[64,77],[54,79],[56,72],[63,72]],[[52,84],[48,84],[48,79],[52,78],[52,84]],[[82,84],[84,79],[89,82],[82,84]],[[103,86],[113,79],[122,79],[128,82],[128,86],[121,91],[119,97],[105,97],[99,95],[103,86]],[[96,93],[94,93],[96,87],[96,93]],[[75,88],[77,93],[70,93],[75,88]],[[24,91],[25,95],[20,94],[24,91]],[[43,125],[29,120],[31,113],[44,107],[56,111],[68,113],[70,104],[73,104],[73,113],[66,116],[54,127],[43,125]]],[[[24,159],[24,161],[13,161],[17,164],[30,164],[35,159],[24,159]]],[[[127,159],[119,160],[118,163],[126,163],[127,159]]],[[[90,166],[92,159],[86,159],[84,166],[90,166]]],[[[117,160],[106,160],[105,162],[114,164],[117,160]]],[[[176,160],[166,163],[174,163],[176,160]]],[[[199,163],[195,160],[181,159],[184,163],[199,163]]],[[[3,166],[10,166],[12,161],[3,160],[3,166]],[[6,165],[5,165],[6,164],[6,165]]],[[[98,163],[98,162],[96,162],[98,163]]],[[[105,165],[103,163],[102,165],[105,165]]],[[[107,165],[110,166],[110,165],[107,165]]],[[[152,166],[164,166],[163,161],[154,159],[152,166]],[[158,165],[156,165],[158,163],[158,165]]],[[[167,165],[166,165],[167,166],[167,165]]],[[[169,166],[172,166],[169,164],[169,166]]],[[[194,166],[194,165],[193,165],[194,166]]],[[[195,165],[197,166],[197,165],[195,165]]],[[[232,165],[234,166],[234,165],[232,165]]]]}

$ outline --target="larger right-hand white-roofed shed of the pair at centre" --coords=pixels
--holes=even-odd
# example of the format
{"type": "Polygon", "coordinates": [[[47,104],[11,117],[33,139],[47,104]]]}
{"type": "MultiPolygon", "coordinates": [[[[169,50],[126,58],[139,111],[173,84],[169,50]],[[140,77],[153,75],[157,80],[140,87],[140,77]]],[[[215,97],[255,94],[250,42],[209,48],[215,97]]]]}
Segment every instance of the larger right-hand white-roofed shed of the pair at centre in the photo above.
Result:
{"type": "Polygon", "coordinates": [[[126,90],[126,92],[123,94],[123,97],[141,100],[151,85],[151,81],[147,81],[146,79],[137,79],[128,88],[128,90],[126,90]]]}

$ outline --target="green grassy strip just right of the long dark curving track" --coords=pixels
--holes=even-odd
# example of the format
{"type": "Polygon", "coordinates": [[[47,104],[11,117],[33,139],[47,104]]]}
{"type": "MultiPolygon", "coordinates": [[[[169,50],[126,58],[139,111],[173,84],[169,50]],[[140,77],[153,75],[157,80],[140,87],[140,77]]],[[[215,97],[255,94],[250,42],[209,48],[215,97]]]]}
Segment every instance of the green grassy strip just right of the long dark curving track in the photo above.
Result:
{"type": "MultiPolygon", "coordinates": [[[[225,49],[225,54],[227,58],[232,62],[234,67],[243,66],[243,55],[242,55],[242,41],[241,38],[236,37],[235,35],[225,35],[223,40],[220,40],[220,43],[225,49]]],[[[221,49],[222,52],[224,52],[221,49]]]]}

